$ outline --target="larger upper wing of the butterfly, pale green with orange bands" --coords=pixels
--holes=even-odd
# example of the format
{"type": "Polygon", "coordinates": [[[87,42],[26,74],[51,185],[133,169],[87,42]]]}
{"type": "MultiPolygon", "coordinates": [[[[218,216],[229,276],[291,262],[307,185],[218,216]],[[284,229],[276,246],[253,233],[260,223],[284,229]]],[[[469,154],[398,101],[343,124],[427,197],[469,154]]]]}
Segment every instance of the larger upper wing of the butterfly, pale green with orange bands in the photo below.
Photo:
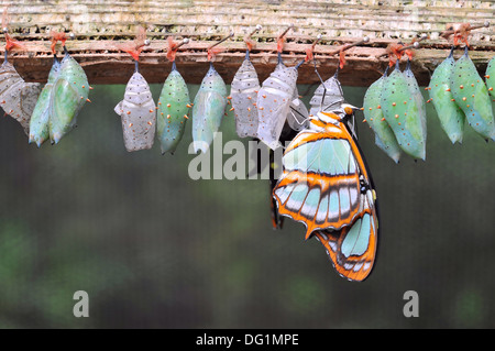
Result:
{"type": "Polygon", "coordinates": [[[302,131],[284,153],[284,173],[274,188],[279,213],[306,226],[306,238],[318,229],[340,230],[360,209],[356,146],[342,123],[322,132],[302,131]]]}

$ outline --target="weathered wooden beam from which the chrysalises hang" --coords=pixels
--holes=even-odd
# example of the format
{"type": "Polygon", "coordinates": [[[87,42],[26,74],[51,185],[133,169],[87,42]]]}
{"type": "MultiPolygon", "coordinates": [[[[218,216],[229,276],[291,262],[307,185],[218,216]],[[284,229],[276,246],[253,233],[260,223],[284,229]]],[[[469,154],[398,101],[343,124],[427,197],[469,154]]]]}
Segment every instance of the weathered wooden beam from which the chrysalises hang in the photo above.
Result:
{"type": "MultiPolygon", "coordinates": [[[[371,37],[366,46],[351,48],[340,74],[343,85],[369,86],[387,64],[389,43],[409,43],[422,33],[429,40],[416,51],[414,72],[427,85],[431,72],[448,55],[449,43],[439,37],[447,23],[482,24],[493,21],[493,1],[297,1],[297,0],[183,0],[183,1],[3,1],[9,7],[9,31],[22,41],[26,51],[14,52],[10,61],[28,81],[46,81],[52,56],[50,31],[65,30],[77,35],[67,48],[84,66],[90,84],[125,84],[133,73],[131,57],[118,51],[116,43],[131,41],[138,25],[147,29],[152,44],[141,55],[141,72],[150,83],[163,83],[170,69],[165,57],[166,37],[189,37],[177,54],[177,67],[187,83],[199,84],[208,70],[207,47],[233,31],[234,37],[223,44],[216,57],[216,68],[230,83],[241,65],[245,44],[243,36],[256,24],[263,29],[254,35],[258,42],[251,57],[260,79],[276,65],[276,37],[294,24],[284,46],[284,62],[294,65],[317,34],[322,40],[315,48],[318,68],[323,77],[338,65],[340,45],[371,37]]],[[[495,23],[494,23],[495,24],[495,23]]],[[[471,57],[480,72],[495,54],[493,28],[473,31],[471,57]]],[[[461,55],[462,51],[459,51],[461,55]]],[[[298,84],[317,83],[312,64],[299,69],[298,84]]]]}

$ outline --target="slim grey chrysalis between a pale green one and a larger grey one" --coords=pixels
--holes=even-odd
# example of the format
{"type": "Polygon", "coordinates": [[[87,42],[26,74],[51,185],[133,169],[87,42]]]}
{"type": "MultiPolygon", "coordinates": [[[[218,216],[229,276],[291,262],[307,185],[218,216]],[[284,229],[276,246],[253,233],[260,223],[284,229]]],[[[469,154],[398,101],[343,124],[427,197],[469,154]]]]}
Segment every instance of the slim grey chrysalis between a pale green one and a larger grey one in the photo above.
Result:
{"type": "Polygon", "coordinates": [[[257,109],[255,107],[260,80],[246,51],[245,59],[231,84],[230,96],[235,116],[235,130],[240,138],[256,136],[257,109]]]}

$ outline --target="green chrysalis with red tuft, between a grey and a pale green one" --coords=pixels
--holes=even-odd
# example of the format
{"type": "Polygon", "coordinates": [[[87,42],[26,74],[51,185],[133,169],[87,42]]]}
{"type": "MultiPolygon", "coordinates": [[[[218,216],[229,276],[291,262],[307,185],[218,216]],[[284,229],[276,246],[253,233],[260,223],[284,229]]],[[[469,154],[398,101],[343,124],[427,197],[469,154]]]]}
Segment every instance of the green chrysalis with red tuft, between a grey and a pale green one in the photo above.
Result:
{"type": "Polygon", "coordinates": [[[162,154],[174,154],[183,139],[190,108],[189,90],[186,81],[175,66],[175,53],[182,44],[188,43],[185,39],[175,44],[168,36],[167,57],[172,62],[172,72],[165,80],[158,99],[158,113],[156,125],[162,154]]]}

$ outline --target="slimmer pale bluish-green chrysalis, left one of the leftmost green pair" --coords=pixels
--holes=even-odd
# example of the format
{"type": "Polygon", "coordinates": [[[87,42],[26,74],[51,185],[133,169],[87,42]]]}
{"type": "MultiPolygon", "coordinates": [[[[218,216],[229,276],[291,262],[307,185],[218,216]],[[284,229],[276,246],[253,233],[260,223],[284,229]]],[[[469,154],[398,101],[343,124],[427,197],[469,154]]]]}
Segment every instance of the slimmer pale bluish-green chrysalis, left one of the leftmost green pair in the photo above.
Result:
{"type": "Polygon", "coordinates": [[[41,144],[50,138],[50,101],[52,98],[53,86],[59,72],[61,63],[58,62],[57,56],[54,55],[52,69],[48,74],[48,80],[40,94],[30,122],[30,143],[36,143],[37,147],[40,147],[41,144]]]}

